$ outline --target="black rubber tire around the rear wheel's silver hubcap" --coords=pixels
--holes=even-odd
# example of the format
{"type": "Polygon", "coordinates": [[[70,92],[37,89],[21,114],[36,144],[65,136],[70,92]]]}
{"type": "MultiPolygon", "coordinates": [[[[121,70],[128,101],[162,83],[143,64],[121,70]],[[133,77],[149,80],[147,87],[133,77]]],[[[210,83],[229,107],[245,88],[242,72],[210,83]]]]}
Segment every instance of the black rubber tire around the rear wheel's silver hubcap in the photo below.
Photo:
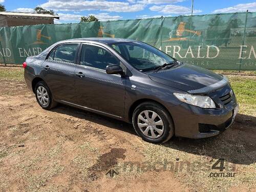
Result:
{"type": "Polygon", "coordinates": [[[39,81],[39,82],[36,83],[36,85],[35,85],[35,98],[36,98],[38,104],[41,106],[41,108],[45,109],[45,110],[50,110],[50,109],[54,108],[57,105],[57,102],[53,100],[52,93],[51,93],[49,87],[47,86],[47,84],[45,83],[45,81],[39,81]],[[39,101],[38,97],[37,97],[37,89],[39,87],[43,87],[48,93],[48,102],[45,105],[42,104],[39,101]]]}

